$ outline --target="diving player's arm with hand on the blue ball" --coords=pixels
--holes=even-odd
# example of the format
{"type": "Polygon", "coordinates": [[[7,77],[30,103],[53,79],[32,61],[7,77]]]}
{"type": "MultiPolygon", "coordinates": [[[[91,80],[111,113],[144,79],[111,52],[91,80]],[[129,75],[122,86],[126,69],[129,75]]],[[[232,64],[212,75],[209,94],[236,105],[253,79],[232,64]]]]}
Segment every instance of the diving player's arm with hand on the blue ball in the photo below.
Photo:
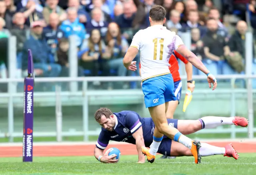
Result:
{"type": "Polygon", "coordinates": [[[108,156],[110,150],[103,154],[104,149],[108,146],[108,142],[109,136],[104,131],[101,131],[96,146],[94,147],[94,157],[102,163],[115,163],[118,159],[113,160],[116,155],[108,156]]]}

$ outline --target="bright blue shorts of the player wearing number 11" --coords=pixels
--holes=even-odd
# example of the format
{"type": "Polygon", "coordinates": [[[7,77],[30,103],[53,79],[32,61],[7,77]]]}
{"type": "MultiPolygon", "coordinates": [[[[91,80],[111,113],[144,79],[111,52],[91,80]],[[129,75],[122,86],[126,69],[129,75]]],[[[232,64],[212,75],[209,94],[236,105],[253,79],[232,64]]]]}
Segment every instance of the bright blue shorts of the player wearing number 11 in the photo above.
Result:
{"type": "Polygon", "coordinates": [[[176,101],[172,74],[153,77],[142,82],[146,108],[176,101]]]}

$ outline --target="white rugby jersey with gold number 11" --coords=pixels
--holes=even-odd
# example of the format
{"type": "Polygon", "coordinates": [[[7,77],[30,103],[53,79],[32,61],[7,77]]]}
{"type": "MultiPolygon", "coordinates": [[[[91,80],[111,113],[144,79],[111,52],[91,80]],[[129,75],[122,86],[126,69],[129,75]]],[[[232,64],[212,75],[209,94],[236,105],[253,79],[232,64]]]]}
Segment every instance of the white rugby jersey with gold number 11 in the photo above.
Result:
{"type": "Polygon", "coordinates": [[[168,62],[172,52],[183,44],[175,32],[162,25],[139,30],[130,47],[140,51],[142,81],[170,73],[168,62]]]}

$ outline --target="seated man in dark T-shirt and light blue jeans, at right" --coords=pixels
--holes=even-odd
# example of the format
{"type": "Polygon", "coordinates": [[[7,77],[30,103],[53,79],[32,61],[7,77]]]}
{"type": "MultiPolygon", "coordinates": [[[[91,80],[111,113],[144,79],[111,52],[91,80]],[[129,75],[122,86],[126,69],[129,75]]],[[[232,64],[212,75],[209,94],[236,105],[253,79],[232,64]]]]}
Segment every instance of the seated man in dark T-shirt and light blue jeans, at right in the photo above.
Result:
{"type": "MultiPolygon", "coordinates": [[[[207,32],[202,38],[204,55],[206,56],[203,62],[212,74],[217,75],[220,73],[218,67],[222,65],[224,56],[230,54],[230,49],[225,41],[225,37],[217,33],[218,22],[215,19],[208,19],[206,26],[207,32]]],[[[199,74],[202,74],[202,72],[200,71],[199,74]]]]}

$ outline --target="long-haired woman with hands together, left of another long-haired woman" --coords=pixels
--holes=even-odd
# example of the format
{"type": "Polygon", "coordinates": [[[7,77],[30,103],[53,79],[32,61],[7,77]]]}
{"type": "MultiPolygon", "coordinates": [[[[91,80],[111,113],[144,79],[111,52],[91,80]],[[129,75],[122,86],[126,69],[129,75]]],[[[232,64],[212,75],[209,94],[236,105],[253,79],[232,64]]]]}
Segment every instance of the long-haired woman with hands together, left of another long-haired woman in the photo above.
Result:
{"type": "Polygon", "coordinates": [[[102,70],[102,75],[109,75],[106,62],[110,58],[110,51],[106,48],[98,29],[91,31],[85,49],[80,51],[79,55],[81,55],[80,65],[85,69],[86,75],[97,76],[99,70],[102,70]]]}

